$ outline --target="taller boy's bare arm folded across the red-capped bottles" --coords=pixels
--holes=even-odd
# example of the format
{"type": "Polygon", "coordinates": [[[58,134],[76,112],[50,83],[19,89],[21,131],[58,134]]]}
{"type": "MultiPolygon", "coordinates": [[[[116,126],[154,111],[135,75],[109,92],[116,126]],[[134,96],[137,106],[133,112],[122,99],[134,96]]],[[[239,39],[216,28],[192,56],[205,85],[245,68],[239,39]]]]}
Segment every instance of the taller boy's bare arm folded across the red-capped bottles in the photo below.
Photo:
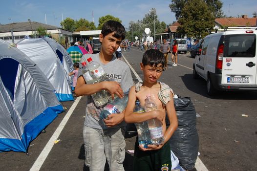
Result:
{"type": "Polygon", "coordinates": [[[120,98],[123,97],[123,91],[119,83],[104,81],[95,84],[86,84],[83,76],[80,76],[77,80],[75,94],[77,96],[91,95],[104,89],[108,90],[111,94],[117,94],[120,98]]]}

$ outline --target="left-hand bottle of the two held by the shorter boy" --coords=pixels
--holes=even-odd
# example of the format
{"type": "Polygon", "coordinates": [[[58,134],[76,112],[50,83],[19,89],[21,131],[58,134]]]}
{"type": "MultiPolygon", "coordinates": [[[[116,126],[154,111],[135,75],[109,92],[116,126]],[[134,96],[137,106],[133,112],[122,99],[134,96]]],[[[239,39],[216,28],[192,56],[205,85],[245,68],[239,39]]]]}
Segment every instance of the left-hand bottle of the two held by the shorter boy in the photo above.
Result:
{"type": "MultiPolygon", "coordinates": [[[[144,107],[140,105],[140,101],[136,101],[136,106],[134,109],[135,113],[145,113],[144,107]]],[[[140,147],[148,148],[149,144],[151,143],[151,136],[148,129],[147,121],[141,122],[141,123],[135,123],[136,129],[137,129],[137,136],[138,136],[138,144],[140,147]]]]}

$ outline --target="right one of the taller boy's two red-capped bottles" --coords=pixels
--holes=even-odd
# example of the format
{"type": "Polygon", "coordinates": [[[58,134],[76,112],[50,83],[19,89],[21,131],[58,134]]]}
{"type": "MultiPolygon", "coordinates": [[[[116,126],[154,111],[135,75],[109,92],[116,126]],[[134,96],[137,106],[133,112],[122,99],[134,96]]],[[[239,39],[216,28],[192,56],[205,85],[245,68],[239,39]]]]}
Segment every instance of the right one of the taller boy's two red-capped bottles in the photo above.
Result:
{"type": "MultiPolygon", "coordinates": [[[[93,61],[92,58],[90,58],[90,57],[87,59],[87,62],[89,63],[87,68],[90,72],[90,76],[93,79],[95,79],[97,82],[109,81],[108,78],[106,77],[105,70],[99,63],[93,61]]],[[[91,96],[97,107],[101,107],[108,103],[108,99],[107,99],[105,90],[91,94],[91,96]]]]}

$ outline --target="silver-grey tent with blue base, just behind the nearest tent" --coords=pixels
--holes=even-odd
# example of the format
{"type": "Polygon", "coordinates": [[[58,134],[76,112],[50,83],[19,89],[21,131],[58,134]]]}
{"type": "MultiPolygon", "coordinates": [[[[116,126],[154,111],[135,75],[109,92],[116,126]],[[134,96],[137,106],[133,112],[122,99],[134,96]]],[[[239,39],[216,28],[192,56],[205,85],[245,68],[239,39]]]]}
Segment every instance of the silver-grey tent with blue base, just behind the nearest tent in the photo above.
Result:
{"type": "Polygon", "coordinates": [[[34,61],[56,90],[59,101],[74,100],[67,74],[58,56],[43,38],[22,39],[17,47],[34,61]]]}

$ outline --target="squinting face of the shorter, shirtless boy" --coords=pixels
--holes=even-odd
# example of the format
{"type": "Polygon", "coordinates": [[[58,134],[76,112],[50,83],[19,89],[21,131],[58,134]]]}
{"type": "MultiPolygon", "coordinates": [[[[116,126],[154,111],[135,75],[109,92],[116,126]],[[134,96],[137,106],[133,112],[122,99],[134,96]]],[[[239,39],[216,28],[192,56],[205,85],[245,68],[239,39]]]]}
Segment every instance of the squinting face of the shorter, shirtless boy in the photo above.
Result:
{"type": "Polygon", "coordinates": [[[147,83],[154,84],[157,82],[157,80],[160,78],[162,75],[163,67],[161,64],[157,64],[156,66],[153,65],[143,65],[140,63],[141,70],[143,71],[144,74],[144,80],[147,83]]]}

